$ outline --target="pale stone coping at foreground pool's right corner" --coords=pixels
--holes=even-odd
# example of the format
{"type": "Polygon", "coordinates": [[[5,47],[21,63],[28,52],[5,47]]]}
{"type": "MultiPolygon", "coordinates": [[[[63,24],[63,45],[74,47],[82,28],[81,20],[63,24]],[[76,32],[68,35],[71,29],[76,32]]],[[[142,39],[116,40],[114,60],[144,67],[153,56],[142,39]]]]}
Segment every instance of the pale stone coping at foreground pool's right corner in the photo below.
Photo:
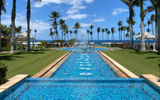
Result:
{"type": "Polygon", "coordinates": [[[158,88],[160,89],[160,82],[158,82],[158,80],[160,80],[159,77],[152,74],[142,74],[141,77],[158,86],[158,88]]]}

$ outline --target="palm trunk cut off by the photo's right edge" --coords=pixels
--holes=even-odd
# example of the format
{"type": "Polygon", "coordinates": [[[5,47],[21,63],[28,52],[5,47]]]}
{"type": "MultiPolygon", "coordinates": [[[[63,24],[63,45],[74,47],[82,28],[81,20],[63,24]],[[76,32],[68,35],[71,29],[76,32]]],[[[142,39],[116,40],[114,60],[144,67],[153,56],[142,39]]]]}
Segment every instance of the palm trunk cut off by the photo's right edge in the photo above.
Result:
{"type": "MultiPolygon", "coordinates": [[[[160,7],[157,9],[157,26],[160,27],[160,7]]],[[[158,28],[158,54],[160,54],[160,28],[158,28]]]]}

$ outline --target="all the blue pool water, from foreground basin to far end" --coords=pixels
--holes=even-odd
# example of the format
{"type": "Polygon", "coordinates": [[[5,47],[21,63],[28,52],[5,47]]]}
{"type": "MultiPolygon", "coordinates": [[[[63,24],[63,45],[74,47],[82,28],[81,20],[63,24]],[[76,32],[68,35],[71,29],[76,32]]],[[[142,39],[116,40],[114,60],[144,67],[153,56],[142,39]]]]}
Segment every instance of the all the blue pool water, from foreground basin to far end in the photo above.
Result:
{"type": "Polygon", "coordinates": [[[107,49],[63,50],[73,53],[50,78],[27,78],[0,100],[160,100],[160,89],[145,79],[119,78],[96,52],[107,49]]]}

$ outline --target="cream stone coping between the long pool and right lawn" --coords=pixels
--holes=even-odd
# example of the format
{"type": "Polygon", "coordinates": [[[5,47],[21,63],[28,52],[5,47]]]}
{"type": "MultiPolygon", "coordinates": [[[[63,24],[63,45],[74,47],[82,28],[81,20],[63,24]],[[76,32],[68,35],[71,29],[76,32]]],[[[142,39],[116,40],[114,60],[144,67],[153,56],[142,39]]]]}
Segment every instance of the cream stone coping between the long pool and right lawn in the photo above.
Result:
{"type": "Polygon", "coordinates": [[[118,62],[113,60],[111,57],[107,56],[102,51],[98,51],[102,56],[104,56],[109,62],[111,62],[115,67],[117,67],[122,73],[124,73],[128,78],[139,78],[137,75],[126,69],[124,66],[120,65],[118,62]]]}

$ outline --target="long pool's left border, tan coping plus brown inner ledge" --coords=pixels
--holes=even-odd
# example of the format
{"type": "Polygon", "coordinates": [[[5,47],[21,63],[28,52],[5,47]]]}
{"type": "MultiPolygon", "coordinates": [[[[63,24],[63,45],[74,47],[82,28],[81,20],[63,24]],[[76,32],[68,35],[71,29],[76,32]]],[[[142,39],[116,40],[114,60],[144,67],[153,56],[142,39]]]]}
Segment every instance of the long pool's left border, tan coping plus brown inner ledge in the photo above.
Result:
{"type": "MultiPolygon", "coordinates": [[[[65,53],[63,56],[59,57],[56,61],[52,62],[47,67],[43,68],[40,72],[36,73],[32,76],[32,78],[40,78],[40,77],[47,77],[46,74],[50,73],[50,70],[55,69],[55,71],[60,67],[60,64],[64,62],[64,59],[68,58],[71,52],[65,53]],[[59,66],[59,67],[58,67],[59,66]]],[[[52,72],[53,74],[53,72],[52,72]]],[[[48,75],[49,77],[49,75],[48,75]]]]}

